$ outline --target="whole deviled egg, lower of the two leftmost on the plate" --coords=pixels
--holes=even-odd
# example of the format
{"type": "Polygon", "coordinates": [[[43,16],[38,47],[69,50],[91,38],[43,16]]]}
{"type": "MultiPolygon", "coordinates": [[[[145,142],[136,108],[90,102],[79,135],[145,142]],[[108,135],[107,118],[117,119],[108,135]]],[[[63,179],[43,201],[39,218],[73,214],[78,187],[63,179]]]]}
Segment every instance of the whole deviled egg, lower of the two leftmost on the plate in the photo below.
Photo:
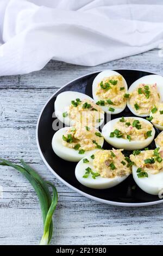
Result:
{"type": "Polygon", "coordinates": [[[76,126],[64,127],[55,132],[52,148],[61,159],[78,162],[89,153],[93,154],[103,147],[104,138],[95,127],[76,126]]]}

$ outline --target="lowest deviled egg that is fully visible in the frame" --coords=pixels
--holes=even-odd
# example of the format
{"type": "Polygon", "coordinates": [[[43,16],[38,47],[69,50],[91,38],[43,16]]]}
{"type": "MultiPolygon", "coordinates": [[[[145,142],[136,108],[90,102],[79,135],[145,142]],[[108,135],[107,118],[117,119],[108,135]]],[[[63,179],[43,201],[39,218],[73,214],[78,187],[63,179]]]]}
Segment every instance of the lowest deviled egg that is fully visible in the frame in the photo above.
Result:
{"type": "Polygon", "coordinates": [[[75,170],[77,180],[86,187],[97,189],[120,184],[131,173],[131,161],[122,151],[96,150],[95,154],[80,160],[75,170]]]}

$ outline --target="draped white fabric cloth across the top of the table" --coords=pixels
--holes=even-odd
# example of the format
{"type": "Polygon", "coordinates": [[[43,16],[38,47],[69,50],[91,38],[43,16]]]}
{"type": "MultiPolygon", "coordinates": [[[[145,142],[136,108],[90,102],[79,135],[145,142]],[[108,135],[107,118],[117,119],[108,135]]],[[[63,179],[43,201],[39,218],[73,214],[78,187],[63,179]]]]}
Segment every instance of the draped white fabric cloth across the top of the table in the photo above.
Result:
{"type": "Polygon", "coordinates": [[[0,75],[79,65],[158,48],[162,0],[0,0],[0,75]]]}

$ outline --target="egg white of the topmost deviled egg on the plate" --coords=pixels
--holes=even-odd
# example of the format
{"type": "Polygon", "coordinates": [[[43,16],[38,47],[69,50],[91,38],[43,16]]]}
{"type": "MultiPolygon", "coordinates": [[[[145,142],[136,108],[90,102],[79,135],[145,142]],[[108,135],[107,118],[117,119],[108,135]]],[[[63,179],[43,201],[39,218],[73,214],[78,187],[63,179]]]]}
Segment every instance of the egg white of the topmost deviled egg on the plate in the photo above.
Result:
{"type": "MultiPolygon", "coordinates": [[[[109,77],[109,76],[114,76],[114,75],[121,75],[119,74],[118,72],[114,71],[114,70],[104,70],[102,72],[100,72],[96,77],[95,79],[93,80],[93,83],[92,83],[92,95],[93,95],[93,99],[97,102],[98,100],[102,100],[100,99],[100,97],[98,97],[96,95],[96,92],[97,92],[97,85],[103,80],[104,77],[109,77]]],[[[126,92],[128,90],[128,87],[127,87],[127,82],[126,80],[124,79],[123,77],[123,82],[124,82],[124,87],[126,89],[126,92]]],[[[106,105],[106,106],[101,106],[101,108],[103,109],[103,111],[105,111],[106,113],[108,114],[118,114],[118,113],[121,113],[124,108],[126,108],[126,105],[123,107],[123,108],[118,108],[116,107],[115,105],[106,105]],[[108,110],[109,106],[111,106],[112,108],[115,109],[114,112],[111,112],[108,110]]]]}

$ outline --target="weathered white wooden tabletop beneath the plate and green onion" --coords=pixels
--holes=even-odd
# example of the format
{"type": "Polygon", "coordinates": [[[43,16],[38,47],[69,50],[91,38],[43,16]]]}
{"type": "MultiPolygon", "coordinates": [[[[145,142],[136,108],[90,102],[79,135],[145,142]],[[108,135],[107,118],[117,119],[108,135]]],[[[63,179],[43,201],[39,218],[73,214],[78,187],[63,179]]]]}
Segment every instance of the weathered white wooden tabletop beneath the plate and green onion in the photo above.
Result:
{"type": "MultiPolygon", "coordinates": [[[[15,162],[23,158],[57,187],[53,245],[163,244],[163,204],[122,208],[94,202],[57,180],[37,150],[36,122],[48,98],[78,76],[114,68],[163,74],[163,57],[153,50],[95,67],[51,61],[41,71],[0,78],[0,156],[15,162]]],[[[8,167],[0,167],[0,186],[0,245],[38,244],[43,225],[33,188],[8,167]]]]}

